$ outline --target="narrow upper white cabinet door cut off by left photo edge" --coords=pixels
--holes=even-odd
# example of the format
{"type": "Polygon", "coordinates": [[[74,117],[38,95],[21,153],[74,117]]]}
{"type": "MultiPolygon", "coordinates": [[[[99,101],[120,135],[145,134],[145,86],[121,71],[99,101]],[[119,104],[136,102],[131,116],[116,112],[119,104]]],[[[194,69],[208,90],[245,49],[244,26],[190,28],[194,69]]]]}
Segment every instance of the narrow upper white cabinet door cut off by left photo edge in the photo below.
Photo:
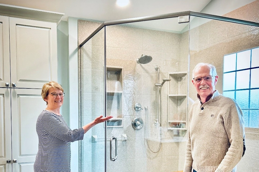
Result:
{"type": "Polygon", "coordinates": [[[10,83],[9,17],[0,16],[0,87],[10,83]]]}

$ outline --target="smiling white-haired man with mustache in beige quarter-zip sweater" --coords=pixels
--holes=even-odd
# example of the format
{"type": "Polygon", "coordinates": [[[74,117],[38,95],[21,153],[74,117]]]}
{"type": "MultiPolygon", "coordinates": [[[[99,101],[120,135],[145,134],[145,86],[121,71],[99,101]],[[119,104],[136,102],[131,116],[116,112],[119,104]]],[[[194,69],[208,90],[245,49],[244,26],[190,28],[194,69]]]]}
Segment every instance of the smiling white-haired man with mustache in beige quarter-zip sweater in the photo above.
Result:
{"type": "Polygon", "coordinates": [[[192,82],[198,100],[189,112],[184,172],[236,172],[244,154],[242,111],[235,100],[215,90],[217,81],[213,65],[195,66],[192,82]]]}

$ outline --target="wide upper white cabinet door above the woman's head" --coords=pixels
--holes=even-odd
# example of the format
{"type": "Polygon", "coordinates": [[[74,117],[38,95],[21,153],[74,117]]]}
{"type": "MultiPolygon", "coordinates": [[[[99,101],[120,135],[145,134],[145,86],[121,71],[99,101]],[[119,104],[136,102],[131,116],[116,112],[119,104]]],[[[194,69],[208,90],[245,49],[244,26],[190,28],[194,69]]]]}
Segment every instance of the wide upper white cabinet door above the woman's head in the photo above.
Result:
{"type": "Polygon", "coordinates": [[[11,82],[42,88],[57,81],[56,23],[9,17],[11,82]]]}

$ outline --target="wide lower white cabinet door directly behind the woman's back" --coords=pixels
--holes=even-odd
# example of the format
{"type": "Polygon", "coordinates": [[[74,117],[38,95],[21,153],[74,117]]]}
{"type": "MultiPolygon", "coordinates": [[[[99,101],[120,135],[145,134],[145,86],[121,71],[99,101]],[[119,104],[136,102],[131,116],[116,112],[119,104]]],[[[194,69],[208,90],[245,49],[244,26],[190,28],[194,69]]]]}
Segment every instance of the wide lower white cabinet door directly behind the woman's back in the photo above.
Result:
{"type": "Polygon", "coordinates": [[[12,95],[12,157],[13,172],[33,172],[33,163],[38,151],[36,133],[37,117],[46,103],[41,89],[13,89],[12,95]]]}

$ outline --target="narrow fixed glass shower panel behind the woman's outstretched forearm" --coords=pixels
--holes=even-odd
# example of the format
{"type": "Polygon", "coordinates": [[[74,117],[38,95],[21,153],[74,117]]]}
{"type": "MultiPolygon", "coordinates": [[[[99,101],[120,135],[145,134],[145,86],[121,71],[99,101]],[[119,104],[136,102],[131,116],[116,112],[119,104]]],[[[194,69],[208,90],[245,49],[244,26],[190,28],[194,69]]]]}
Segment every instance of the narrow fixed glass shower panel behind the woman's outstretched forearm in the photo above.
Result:
{"type": "MultiPolygon", "coordinates": [[[[78,25],[80,28],[87,27],[84,20],[79,20],[78,25]]],[[[85,37],[85,32],[81,36],[85,37]]],[[[104,28],[81,47],[80,63],[80,124],[84,126],[96,117],[104,115],[104,28]]],[[[79,142],[81,172],[104,171],[104,140],[104,124],[94,126],[84,135],[84,139],[79,142]]]]}

